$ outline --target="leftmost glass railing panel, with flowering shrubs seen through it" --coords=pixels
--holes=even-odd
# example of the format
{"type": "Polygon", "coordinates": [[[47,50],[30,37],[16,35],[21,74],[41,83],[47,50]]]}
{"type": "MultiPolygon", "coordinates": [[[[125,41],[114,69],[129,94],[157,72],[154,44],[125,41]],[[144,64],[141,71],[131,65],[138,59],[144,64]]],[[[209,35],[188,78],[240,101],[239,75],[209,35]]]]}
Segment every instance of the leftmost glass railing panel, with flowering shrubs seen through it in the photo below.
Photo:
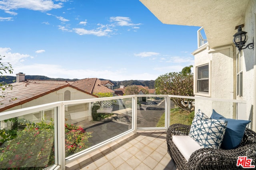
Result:
{"type": "Polygon", "coordinates": [[[52,108],[1,121],[1,168],[40,170],[55,164],[55,112],[52,108]]]}

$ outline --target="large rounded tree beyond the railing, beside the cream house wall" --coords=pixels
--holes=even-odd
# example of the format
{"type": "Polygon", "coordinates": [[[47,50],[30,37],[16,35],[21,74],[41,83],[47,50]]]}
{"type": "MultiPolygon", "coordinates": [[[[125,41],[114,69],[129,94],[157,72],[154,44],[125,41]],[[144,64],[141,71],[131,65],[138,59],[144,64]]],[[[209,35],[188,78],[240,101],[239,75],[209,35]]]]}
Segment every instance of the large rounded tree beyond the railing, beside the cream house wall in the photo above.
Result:
{"type": "MultiPolygon", "coordinates": [[[[158,76],[155,80],[156,94],[170,94],[178,96],[194,96],[193,74],[170,72],[158,76]]],[[[172,98],[174,104],[180,108],[187,108],[184,99],[172,98]]]]}

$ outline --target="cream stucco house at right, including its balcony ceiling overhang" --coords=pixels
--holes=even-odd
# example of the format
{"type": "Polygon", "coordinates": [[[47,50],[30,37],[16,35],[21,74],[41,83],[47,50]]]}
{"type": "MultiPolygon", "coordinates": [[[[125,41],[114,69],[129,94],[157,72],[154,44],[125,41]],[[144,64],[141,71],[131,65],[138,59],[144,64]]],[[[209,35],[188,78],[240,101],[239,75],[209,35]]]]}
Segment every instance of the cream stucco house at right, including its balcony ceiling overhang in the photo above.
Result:
{"type": "Polygon", "coordinates": [[[233,43],[238,25],[244,25],[242,30],[247,32],[245,45],[256,38],[256,1],[140,1],[162,23],[203,27],[207,39],[199,29],[198,49],[192,53],[195,96],[246,101],[246,106],[230,106],[225,102],[196,100],[196,109],[200,108],[208,115],[216,109],[227,118],[251,120],[250,128],[256,131],[256,47],[239,53],[233,43]],[[242,110],[243,114],[238,115],[237,110],[239,113],[242,110]]]}

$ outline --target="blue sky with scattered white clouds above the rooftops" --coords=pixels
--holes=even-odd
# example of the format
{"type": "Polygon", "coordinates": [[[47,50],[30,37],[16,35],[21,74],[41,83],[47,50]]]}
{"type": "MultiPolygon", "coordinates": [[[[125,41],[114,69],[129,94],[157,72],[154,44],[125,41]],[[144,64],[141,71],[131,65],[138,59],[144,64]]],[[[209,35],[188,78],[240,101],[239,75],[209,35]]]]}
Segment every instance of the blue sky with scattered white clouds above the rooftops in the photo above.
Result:
{"type": "Polygon", "coordinates": [[[155,80],[194,64],[199,28],[163,24],[139,0],[0,0],[12,76],[155,80]]]}

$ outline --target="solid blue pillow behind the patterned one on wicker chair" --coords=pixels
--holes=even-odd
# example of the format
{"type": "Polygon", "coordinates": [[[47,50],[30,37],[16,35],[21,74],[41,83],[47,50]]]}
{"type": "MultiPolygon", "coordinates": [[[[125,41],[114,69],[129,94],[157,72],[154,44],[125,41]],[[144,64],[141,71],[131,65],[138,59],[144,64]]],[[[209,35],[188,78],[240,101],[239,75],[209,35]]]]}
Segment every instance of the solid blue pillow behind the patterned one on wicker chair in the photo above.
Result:
{"type": "Polygon", "coordinates": [[[212,110],[211,119],[222,119],[228,121],[226,132],[221,144],[222,149],[236,149],[244,137],[246,125],[251,121],[227,119],[212,110]]]}

